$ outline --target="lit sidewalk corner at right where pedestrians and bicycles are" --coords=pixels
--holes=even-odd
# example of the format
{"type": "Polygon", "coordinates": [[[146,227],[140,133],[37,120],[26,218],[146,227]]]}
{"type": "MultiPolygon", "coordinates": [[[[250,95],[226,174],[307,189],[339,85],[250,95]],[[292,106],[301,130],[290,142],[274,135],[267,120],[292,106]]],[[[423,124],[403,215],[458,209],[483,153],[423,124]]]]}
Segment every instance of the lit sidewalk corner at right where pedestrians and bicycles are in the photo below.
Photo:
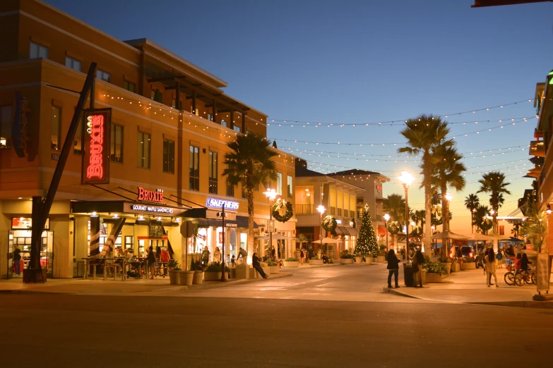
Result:
{"type": "MultiPolygon", "coordinates": [[[[553,301],[535,302],[535,285],[509,286],[504,281],[506,269],[496,269],[499,288],[486,286],[482,269],[458,271],[449,274],[442,283],[427,283],[423,288],[387,289],[384,291],[405,297],[436,302],[457,302],[512,307],[553,308],[553,301]]],[[[495,283],[492,276],[492,283],[495,283]]],[[[553,293],[553,291],[552,291],[553,293]]]]}

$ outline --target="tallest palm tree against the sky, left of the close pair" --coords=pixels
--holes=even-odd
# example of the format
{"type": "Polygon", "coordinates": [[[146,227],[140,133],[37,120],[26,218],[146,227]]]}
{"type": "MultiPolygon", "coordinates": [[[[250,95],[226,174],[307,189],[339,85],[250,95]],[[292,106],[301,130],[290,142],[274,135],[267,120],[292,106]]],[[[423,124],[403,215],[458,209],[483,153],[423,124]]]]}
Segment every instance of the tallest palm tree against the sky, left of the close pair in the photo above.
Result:
{"type": "MultiPolygon", "coordinates": [[[[426,223],[431,223],[432,214],[432,166],[434,165],[433,152],[438,145],[453,146],[453,140],[446,140],[449,133],[448,124],[439,116],[421,115],[405,122],[401,135],[407,139],[407,147],[398,149],[398,153],[407,153],[410,156],[421,155],[422,184],[424,188],[424,211],[426,223]]],[[[424,248],[431,254],[430,241],[432,238],[429,226],[424,231],[424,248]]]]}

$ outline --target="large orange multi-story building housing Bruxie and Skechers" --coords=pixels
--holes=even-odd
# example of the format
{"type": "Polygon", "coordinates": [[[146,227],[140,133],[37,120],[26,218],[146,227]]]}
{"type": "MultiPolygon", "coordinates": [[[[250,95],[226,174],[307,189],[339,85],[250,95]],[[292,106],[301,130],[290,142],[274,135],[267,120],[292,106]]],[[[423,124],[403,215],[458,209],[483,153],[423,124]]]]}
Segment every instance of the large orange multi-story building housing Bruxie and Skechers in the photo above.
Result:
{"type": "MultiPolygon", "coordinates": [[[[223,233],[227,253],[247,244],[246,200],[240,186],[227,185],[222,162],[236,135],[266,136],[266,114],[225,94],[224,80],[149,39],[122,42],[42,1],[1,1],[0,37],[1,254],[19,245],[27,255],[31,199],[47,195],[78,102],[75,91],[92,62],[94,107],[111,109],[102,161],[109,183],[83,184],[90,180],[83,176],[82,143],[91,141],[81,126],[43,234],[49,276],[78,274],[90,233],[100,235],[101,245],[121,218],[116,246],[139,254],[168,243],[179,260],[204,246],[213,254],[223,233]],[[225,229],[216,217],[223,201],[230,211],[225,229]],[[190,219],[201,219],[196,247],[182,236],[181,223],[190,219]]],[[[279,181],[273,186],[293,201],[294,157],[276,151],[279,181]]],[[[269,218],[261,189],[254,218],[260,233],[269,218]]],[[[295,219],[278,231],[295,235],[295,219]]],[[[0,278],[6,262],[1,257],[0,278]]]]}

